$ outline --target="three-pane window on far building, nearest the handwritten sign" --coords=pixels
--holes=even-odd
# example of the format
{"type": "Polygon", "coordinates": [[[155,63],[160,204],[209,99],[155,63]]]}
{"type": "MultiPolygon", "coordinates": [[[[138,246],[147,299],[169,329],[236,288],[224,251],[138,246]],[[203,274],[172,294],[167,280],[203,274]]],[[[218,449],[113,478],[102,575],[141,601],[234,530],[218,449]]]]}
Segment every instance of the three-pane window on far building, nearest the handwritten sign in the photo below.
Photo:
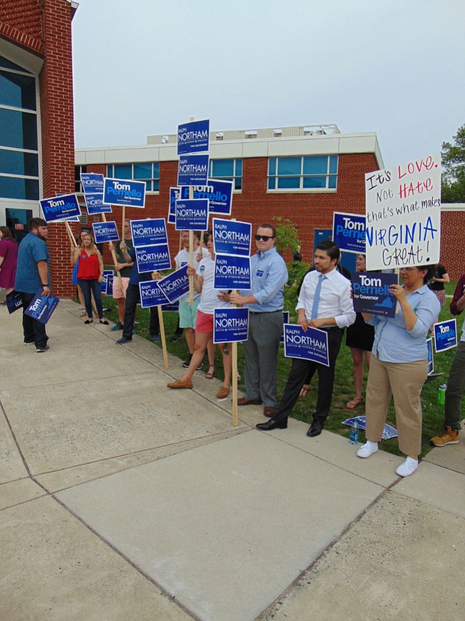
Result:
{"type": "Polygon", "coordinates": [[[269,158],[269,190],[335,190],[337,156],[269,158]]]}

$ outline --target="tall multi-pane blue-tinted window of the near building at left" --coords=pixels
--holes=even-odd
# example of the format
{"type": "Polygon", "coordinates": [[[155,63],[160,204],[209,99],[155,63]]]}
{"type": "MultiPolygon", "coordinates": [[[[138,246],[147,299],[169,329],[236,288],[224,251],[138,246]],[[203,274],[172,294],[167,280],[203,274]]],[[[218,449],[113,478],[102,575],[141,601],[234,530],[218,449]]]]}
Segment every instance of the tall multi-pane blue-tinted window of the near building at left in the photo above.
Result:
{"type": "Polygon", "coordinates": [[[0,56],[0,197],[39,198],[37,79],[0,56]]]}

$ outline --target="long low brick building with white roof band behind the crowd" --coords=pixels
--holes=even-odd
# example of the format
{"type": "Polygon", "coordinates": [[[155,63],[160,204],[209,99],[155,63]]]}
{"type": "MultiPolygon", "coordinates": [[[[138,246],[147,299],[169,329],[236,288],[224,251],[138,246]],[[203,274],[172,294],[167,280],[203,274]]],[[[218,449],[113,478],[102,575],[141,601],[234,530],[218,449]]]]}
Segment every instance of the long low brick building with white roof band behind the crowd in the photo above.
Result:
{"type": "MultiPolygon", "coordinates": [[[[174,135],[149,136],[140,147],[76,150],[79,172],[145,179],[146,217],[167,217],[176,185],[174,135]]],[[[331,229],[332,213],[364,213],[364,174],[383,167],[375,133],[340,133],[336,125],[210,132],[210,177],[234,181],[233,217],[257,226],[273,216],[296,223],[304,259],[312,258],[314,229],[331,229]]],[[[120,209],[114,208],[118,226],[120,209]]],[[[144,217],[126,208],[126,217],[144,217]]],[[[172,254],[178,233],[169,226],[172,254]]]]}

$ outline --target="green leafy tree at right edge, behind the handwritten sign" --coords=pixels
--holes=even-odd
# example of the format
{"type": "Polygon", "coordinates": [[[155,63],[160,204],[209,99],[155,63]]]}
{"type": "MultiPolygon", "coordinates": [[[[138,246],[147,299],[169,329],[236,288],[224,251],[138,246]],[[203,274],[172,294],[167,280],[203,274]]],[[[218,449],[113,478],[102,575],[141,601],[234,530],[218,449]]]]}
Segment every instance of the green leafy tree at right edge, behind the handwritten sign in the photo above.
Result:
{"type": "Polygon", "coordinates": [[[442,144],[443,203],[465,203],[465,125],[457,129],[453,144],[442,144]]]}

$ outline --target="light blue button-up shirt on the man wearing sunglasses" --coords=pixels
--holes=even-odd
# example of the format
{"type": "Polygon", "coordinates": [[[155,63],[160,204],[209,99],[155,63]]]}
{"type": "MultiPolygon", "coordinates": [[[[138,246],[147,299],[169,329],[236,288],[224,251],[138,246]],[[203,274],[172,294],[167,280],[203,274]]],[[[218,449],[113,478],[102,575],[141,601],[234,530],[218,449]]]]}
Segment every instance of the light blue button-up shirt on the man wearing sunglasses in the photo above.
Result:
{"type": "Polygon", "coordinates": [[[273,313],[284,308],[284,285],[287,283],[285,260],[275,247],[257,251],[251,257],[252,288],[242,295],[253,295],[257,304],[245,304],[253,313],[273,313]]]}

